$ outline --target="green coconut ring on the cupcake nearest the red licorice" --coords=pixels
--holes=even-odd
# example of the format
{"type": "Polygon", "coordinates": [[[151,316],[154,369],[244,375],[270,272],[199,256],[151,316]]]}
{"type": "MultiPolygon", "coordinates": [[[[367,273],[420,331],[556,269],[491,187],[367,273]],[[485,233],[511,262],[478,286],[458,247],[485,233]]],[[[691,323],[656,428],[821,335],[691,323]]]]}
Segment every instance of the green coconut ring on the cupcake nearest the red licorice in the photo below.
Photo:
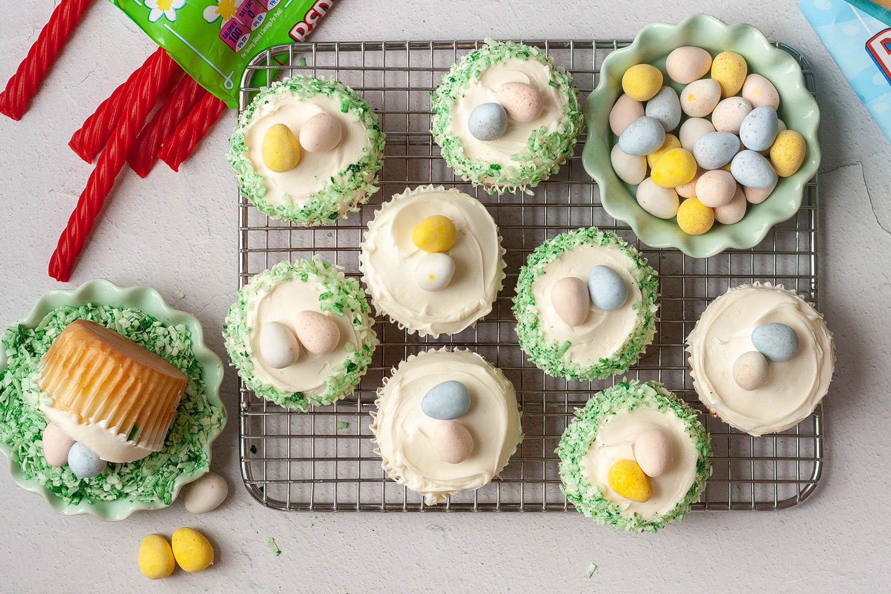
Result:
{"type": "MultiPolygon", "coordinates": [[[[260,117],[260,116],[257,116],[260,117]]],[[[371,195],[380,190],[378,172],[383,166],[384,133],[380,130],[378,116],[372,107],[356,91],[338,80],[294,76],[276,82],[262,89],[246,110],[241,112],[235,131],[229,139],[229,152],[226,159],[235,169],[235,176],[241,191],[260,212],[278,219],[293,221],[301,225],[331,224],[347,212],[356,211],[371,195]],[[363,151],[362,159],[350,164],[343,171],[331,175],[329,183],[298,204],[285,194],[282,204],[274,205],[266,200],[266,185],[263,176],[257,174],[247,157],[245,142],[248,124],[264,106],[284,97],[297,97],[305,100],[315,94],[323,94],[339,102],[350,119],[362,122],[368,137],[370,151],[363,151]]]]}

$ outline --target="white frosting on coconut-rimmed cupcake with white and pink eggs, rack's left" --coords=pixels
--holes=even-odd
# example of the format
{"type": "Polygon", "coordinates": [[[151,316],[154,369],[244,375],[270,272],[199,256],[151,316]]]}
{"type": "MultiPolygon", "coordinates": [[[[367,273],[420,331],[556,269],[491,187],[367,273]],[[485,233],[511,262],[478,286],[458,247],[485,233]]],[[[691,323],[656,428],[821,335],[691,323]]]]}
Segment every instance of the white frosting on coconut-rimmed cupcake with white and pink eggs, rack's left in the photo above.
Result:
{"type": "Polygon", "coordinates": [[[345,309],[343,316],[322,312],[319,307],[319,296],[326,290],[324,285],[310,274],[306,282],[298,278],[282,281],[268,291],[257,291],[249,295],[245,323],[250,329],[250,361],[254,364],[254,376],[263,383],[287,392],[320,394],[324,388],[325,378],[331,375],[331,368],[347,358],[347,349],[353,350],[359,345],[356,329],[352,323],[353,312],[345,309]],[[326,354],[312,354],[305,348],[300,349],[297,362],[281,370],[267,365],[259,356],[263,325],[269,321],[278,321],[296,335],[295,322],[298,313],[307,310],[323,313],[337,324],[340,330],[338,346],[326,354]]]}

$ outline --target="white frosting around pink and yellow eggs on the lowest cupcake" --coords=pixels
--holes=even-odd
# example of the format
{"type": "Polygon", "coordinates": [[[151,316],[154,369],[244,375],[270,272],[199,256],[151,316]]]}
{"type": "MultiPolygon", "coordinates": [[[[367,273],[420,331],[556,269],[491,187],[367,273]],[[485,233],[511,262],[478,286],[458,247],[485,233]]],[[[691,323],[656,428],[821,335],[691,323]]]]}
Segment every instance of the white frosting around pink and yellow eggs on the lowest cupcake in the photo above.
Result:
{"type": "Polygon", "coordinates": [[[696,480],[696,443],[687,434],[683,420],[672,411],[636,408],[609,417],[597,431],[591,449],[581,460],[582,476],[590,484],[600,485],[605,497],[617,506],[627,506],[622,515],[640,514],[644,520],[665,514],[684,498],[696,480]],[[634,440],[648,429],[660,429],[671,440],[674,460],[665,473],[650,478],[653,494],[643,503],[626,500],[609,486],[609,468],[618,460],[634,458],[634,440]]]}

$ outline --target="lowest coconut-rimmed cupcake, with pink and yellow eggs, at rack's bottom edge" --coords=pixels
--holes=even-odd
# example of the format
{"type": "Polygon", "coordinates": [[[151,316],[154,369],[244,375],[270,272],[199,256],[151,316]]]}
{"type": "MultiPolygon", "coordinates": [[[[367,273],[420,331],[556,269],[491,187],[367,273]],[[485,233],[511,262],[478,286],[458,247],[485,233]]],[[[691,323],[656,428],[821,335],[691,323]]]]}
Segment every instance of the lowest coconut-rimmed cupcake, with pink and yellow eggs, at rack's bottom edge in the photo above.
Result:
{"type": "Polygon", "coordinates": [[[622,382],[576,409],[557,454],[563,492],[597,524],[654,533],[680,520],[712,474],[696,412],[654,381],[622,382]]]}

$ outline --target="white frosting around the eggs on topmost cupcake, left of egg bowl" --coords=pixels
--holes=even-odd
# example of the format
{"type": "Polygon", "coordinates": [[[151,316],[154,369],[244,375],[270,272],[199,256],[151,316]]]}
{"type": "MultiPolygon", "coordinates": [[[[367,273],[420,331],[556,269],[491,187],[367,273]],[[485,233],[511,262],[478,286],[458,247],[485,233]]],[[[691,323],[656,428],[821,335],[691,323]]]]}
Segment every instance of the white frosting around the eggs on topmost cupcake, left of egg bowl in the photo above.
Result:
{"type": "Polygon", "coordinates": [[[485,69],[478,78],[471,78],[452,108],[452,121],[446,128],[460,140],[468,159],[497,163],[502,167],[520,165],[512,156],[526,148],[529,135],[544,126],[547,134],[554,132],[563,117],[566,96],[548,84],[551,67],[537,60],[511,58],[485,69]],[[496,93],[504,83],[533,85],[542,94],[544,107],[535,120],[522,123],[508,118],[507,130],[494,141],[478,140],[467,126],[470,112],[483,103],[497,103],[496,93]]]}

